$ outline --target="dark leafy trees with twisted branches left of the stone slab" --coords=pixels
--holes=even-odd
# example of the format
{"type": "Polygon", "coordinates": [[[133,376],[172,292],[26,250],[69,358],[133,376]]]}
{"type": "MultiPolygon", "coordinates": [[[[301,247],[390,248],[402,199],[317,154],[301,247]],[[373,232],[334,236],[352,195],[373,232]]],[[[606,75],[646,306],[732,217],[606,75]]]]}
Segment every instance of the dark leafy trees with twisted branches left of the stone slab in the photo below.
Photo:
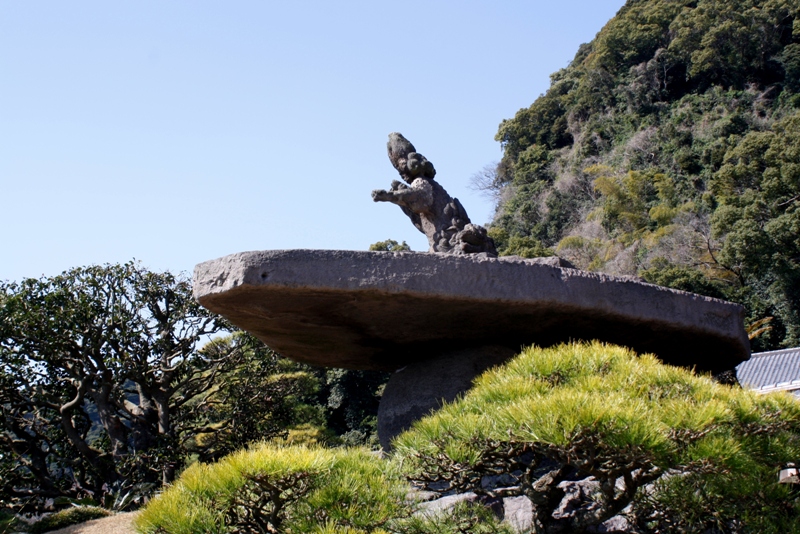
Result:
{"type": "Polygon", "coordinates": [[[248,336],[201,348],[228,329],[189,280],[135,263],[0,284],[0,500],[101,500],[170,482],[190,445],[279,433],[268,414],[301,377],[269,382],[274,353],[248,336]]]}

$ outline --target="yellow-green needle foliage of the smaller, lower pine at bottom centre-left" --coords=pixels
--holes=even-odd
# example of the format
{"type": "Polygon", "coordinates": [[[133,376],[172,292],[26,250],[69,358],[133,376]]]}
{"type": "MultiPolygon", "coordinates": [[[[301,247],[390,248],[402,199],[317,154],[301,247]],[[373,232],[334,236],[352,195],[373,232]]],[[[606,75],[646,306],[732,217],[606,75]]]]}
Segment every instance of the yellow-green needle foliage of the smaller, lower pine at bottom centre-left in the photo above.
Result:
{"type": "Polygon", "coordinates": [[[148,504],[136,528],[141,533],[231,532],[225,513],[248,476],[293,473],[309,473],[312,487],[287,506],[287,532],[377,532],[405,506],[399,473],[366,449],[265,443],[214,464],[194,464],[148,504]]]}

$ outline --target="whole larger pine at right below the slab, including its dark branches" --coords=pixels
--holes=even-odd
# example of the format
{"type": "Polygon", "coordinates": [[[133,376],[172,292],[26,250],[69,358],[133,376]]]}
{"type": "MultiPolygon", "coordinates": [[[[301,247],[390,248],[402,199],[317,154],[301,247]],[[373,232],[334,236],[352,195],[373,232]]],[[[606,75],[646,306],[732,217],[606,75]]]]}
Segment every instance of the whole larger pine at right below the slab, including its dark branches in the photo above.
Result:
{"type": "MultiPolygon", "coordinates": [[[[777,473],[800,458],[800,403],[601,343],[530,348],[396,443],[412,480],[490,497],[526,495],[537,532],[625,510],[644,532],[800,532],[800,500],[777,473]],[[484,477],[514,475],[488,490],[484,477]],[[567,480],[595,503],[553,518],[567,480]],[[686,497],[689,495],[690,497],[686,497]]],[[[553,530],[555,531],[555,530],[553,530]]]]}

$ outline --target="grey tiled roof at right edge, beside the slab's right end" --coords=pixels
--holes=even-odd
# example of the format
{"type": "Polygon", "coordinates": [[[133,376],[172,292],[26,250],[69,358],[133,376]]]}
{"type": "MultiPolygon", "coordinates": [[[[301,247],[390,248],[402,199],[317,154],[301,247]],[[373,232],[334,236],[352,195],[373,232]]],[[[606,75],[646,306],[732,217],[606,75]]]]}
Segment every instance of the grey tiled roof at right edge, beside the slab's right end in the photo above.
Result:
{"type": "Polygon", "coordinates": [[[736,367],[736,377],[753,389],[800,389],[800,347],[756,352],[736,367]]]}

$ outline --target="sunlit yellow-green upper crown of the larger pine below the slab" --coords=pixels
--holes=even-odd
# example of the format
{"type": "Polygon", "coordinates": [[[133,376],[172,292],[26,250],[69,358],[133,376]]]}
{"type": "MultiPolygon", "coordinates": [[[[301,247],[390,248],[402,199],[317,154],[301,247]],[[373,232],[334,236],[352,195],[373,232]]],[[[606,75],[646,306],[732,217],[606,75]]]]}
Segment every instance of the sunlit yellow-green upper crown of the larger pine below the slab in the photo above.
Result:
{"type": "Polygon", "coordinates": [[[566,344],[529,348],[485,373],[463,399],[418,421],[396,447],[410,453],[444,436],[466,442],[476,436],[505,439],[509,431],[566,445],[580,430],[592,429],[606,443],[639,446],[666,459],[675,450],[676,430],[719,425],[724,432],[728,424],[758,422],[772,413],[800,421],[800,404],[788,395],[723,386],[621,347],[566,344]]]}

